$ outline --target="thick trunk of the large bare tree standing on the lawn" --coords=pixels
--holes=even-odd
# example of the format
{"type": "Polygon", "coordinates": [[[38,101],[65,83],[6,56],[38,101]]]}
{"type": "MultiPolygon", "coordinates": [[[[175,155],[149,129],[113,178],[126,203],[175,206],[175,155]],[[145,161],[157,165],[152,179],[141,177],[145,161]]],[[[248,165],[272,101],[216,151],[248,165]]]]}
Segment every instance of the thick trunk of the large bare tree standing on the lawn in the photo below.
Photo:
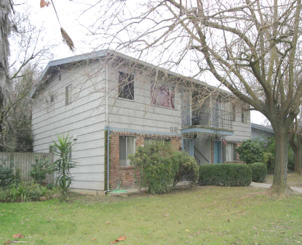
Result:
{"type": "Polygon", "coordinates": [[[275,165],[272,188],[277,191],[278,194],[283,194],[288,189],[286,185],[287,179],[287,163],[288,163],[288,127],[284,126],[285,123],[277,123],[277,126],[273,126],[276,147],[275,147],[275,165]]]}

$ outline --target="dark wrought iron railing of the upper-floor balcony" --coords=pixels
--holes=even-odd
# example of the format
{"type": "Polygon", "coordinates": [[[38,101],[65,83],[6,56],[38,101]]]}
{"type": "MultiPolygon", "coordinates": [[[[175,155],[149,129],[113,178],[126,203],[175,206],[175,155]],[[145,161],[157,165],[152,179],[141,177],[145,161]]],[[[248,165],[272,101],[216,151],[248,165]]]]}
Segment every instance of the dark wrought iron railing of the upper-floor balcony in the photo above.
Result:
{"type": "Polygon", "coordinates": [[[232,129],[232,113],[229,111],[202,106],[192,111],[191,118],[190,110],[186,110],[186,112],[183,114],[183,117],[186,118],[186,120],[183,120],[183,126],[199,125],[210,128],[232,129]]]}

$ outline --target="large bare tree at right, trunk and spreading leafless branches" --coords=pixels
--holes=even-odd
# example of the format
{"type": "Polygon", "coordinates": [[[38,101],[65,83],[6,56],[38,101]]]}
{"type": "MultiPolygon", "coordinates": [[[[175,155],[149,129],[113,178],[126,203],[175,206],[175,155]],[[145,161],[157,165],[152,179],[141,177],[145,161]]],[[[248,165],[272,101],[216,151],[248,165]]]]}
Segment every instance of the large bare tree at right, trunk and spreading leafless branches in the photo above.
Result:
{"type": "Polygon", "coordinates": [[[105,42],[102,46],[146,60],[157,54],[159,65],[174,70],[194,60],[192,77],[212,74],[250,110],[265,115],[276,137],[272,188],[279,194],[289,189],[288,132],[302,96],[300,0],[148,0],[136,6],[115,0],[99,5],[100,18],[90,32],[105,42]]]}

